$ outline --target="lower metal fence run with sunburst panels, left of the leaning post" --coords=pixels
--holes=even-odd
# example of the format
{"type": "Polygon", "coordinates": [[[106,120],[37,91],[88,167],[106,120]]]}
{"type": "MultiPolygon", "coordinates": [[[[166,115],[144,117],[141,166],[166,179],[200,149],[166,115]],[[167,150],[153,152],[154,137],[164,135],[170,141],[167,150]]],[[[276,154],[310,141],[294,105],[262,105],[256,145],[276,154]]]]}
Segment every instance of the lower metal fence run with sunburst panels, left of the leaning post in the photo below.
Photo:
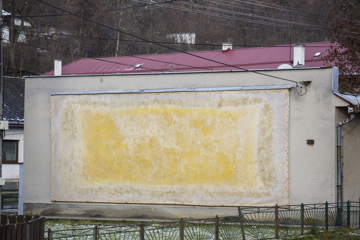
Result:
{"type": "Polygon", "coordinates": [[[111,227],[57,230],[45,233],[48,240],[237,240],[242,237],[239,216],[111,227]],[[50,239],[49,239],[50,236],[50,239]]]}

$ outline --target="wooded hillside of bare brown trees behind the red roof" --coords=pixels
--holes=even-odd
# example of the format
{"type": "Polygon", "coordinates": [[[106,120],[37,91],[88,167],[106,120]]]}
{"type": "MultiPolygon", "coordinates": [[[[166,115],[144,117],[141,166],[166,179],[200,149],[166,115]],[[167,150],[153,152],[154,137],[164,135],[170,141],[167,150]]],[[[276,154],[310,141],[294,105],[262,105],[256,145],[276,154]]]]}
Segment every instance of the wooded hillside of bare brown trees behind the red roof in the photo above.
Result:
{"type": "MultiPolygon", "coordinates": [[[[290,40],[325,41],[334,26],[330,20],[347,17],[358,22],[360,16],[360,2],[351,0],[44,1],[57,8],[37,0],[3,1],[12,18],[25,16],[23,21],[33,23],[26,29],[9,27],[17,33],[23,30],[26,36],[26,41],[18,42],[19,34],[10,31],[10,41],[4,44],[9,74],[26,75],[22,69],[44,73],[54,68],[54,59],[66,64],[82,57],[175,52],[134,36],[183,51],[221,49],[222,42],[240,48],[289,44],[290,40]],[[181,36],[176,33],[195,33],[195,41],[176,44],[181,36]]],[[[340,34],[349,33],[340,30],[340,34]]]]}

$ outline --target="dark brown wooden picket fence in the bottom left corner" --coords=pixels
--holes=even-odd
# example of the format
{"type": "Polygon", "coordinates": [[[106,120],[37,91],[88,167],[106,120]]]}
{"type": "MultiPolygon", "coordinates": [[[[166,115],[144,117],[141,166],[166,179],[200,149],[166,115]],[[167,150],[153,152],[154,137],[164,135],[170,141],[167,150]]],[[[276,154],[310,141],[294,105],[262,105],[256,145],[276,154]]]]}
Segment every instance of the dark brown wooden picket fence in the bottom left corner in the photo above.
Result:
{"type": "Polygon", "coordinates": [[[0,240],[44,240],[45,218],[31,215],[2,215],[0,240]]]}

